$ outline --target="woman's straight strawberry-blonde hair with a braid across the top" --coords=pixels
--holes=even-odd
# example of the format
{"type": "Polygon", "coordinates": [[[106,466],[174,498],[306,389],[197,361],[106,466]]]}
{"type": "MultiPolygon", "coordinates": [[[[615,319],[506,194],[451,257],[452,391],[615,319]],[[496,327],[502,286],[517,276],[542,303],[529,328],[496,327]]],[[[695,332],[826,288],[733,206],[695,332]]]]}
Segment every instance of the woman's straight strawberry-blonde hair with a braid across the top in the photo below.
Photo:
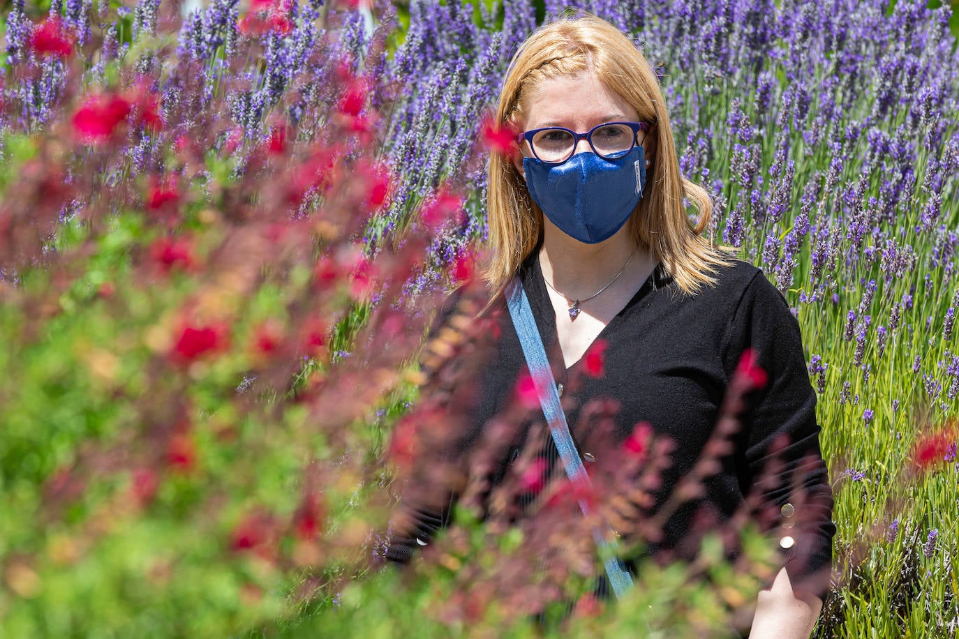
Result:
{"type": "MultiPolygon", "coordinates": [[[[702,188],[685,179],[669,126],[659,81],[643,54],[605,20],[588,13],[565,15],[537,29],[520,47],[503,80],[496,112],[500,126],[519,128],[526,119],[524,99],[547,78],[592,71],[607,88],[653,125],[655,153],[647,187],[630,217],[637,243],[663,264],[681,290],[713,285],[716,267],[730,258],[701,237],[713,214],[702,188]],[[690,222],[684,198],[699,213],[690,222]]],[[[510,157],[494,153],[489,162],[487,208],[490,260],[485,279],[500,290],[516,274],[543,234],[543,212],[530,199],[526,182],[510,157]]]]}

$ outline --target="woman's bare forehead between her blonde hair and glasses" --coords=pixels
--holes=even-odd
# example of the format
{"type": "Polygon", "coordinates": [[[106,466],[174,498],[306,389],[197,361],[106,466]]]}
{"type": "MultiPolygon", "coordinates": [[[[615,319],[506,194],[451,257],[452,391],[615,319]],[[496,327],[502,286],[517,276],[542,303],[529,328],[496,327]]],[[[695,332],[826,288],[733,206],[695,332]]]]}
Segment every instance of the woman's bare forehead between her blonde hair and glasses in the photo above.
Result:
{"type": "Polygon", "coordinates": [[[526,94],[524,128],[566,126],[576,130],[610,120],[635,121],[636,109],[592,70],[538,81],[526,94]]]}

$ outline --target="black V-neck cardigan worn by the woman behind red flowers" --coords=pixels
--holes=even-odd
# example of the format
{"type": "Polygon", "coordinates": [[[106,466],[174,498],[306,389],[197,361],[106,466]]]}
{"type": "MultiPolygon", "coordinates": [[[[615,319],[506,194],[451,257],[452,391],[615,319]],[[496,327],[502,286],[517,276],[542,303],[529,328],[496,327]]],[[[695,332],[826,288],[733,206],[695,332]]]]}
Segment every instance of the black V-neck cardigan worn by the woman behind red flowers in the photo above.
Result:
{"type": "MultiPolygon", "coordinates": [[[[570,371],[565,368],[538,260],[530,259],[524,264],[520,279],[550,354],[553,376],[563,382],[582,362],[573,364],[570,371]]],[[[503,301],[498,301],[498,305],[504,307],[503,301]]],[[[520,372],[526,370],[519,338],[504,310],[500,314],[500,329],[492,360],[479,384],[479,399],[471,420],[477,429],[503,408],[514,392],[520,372]]],[[[789,443],[779,452],[784,463],[780,468],[783,484],[763,497],[777,507],[785,506],[790,499],[787,484],[795,481],[792,471],[804,460],[813,461],[811,467],[804,467],[800,483],[807,493],[805,510],[797,514],[805,523],[792,535],[795,544],[784,551],[784,559],[794,588],[825,598],[835,527],[830,518],[832,493],[819,447],[816,396],[809,383],[799,324],[782,294],[760,269],[746,262],[733,262],[720,269],[716,285],[703,286],[694,295],[687,295],[664,269],[657,268],[597,339],[606,340],[609,345],[604,375],[582,377],[577,405],[591,399],[616,399],[620,403],[620,438],[626,438],[637,422],[648,422],[657,435],[671,438],[676,448],[672,466],[663,477],[667,487],[674,485],[699,458],[740,355],[747,348],[755,351],[768,383],[753,394],[742,419],[736,450],[709,480],[705,500],[690,503],[670,518],[662,547],[675,547],[682,540],[703,503],[712,506],[720,519],[730,517],[769,461],[770,447],[785,435],[789,443]]],[[[567,412],[574,438],[576,413],[577,410],[567,412]]],[[[542,415],[539,417],[542,422],[542,415]]],[[[554,457],[551,442],[547,446],[554,457]]],[[[395,538],[388,558],[408,560],[416,546],[413,539],[419,536],[422,542],[428,538],[443,518],[438,513],[419,513],[415,534],[395,538]]]]}

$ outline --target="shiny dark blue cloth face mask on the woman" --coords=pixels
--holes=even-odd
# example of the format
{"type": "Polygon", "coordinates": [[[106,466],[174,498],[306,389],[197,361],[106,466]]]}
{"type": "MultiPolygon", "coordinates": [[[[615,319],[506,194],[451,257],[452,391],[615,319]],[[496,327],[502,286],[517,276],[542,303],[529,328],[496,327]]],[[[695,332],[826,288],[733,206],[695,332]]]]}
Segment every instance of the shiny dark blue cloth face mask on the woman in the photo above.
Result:
{"type": "Polygon", "coordinates": [[[523,159],[529,196],[546,217],[571,238],[596,244],[609,240],[626,223],[643,196],[643,147],[614,160],[592,151],[563,164],[523,159]]]}

